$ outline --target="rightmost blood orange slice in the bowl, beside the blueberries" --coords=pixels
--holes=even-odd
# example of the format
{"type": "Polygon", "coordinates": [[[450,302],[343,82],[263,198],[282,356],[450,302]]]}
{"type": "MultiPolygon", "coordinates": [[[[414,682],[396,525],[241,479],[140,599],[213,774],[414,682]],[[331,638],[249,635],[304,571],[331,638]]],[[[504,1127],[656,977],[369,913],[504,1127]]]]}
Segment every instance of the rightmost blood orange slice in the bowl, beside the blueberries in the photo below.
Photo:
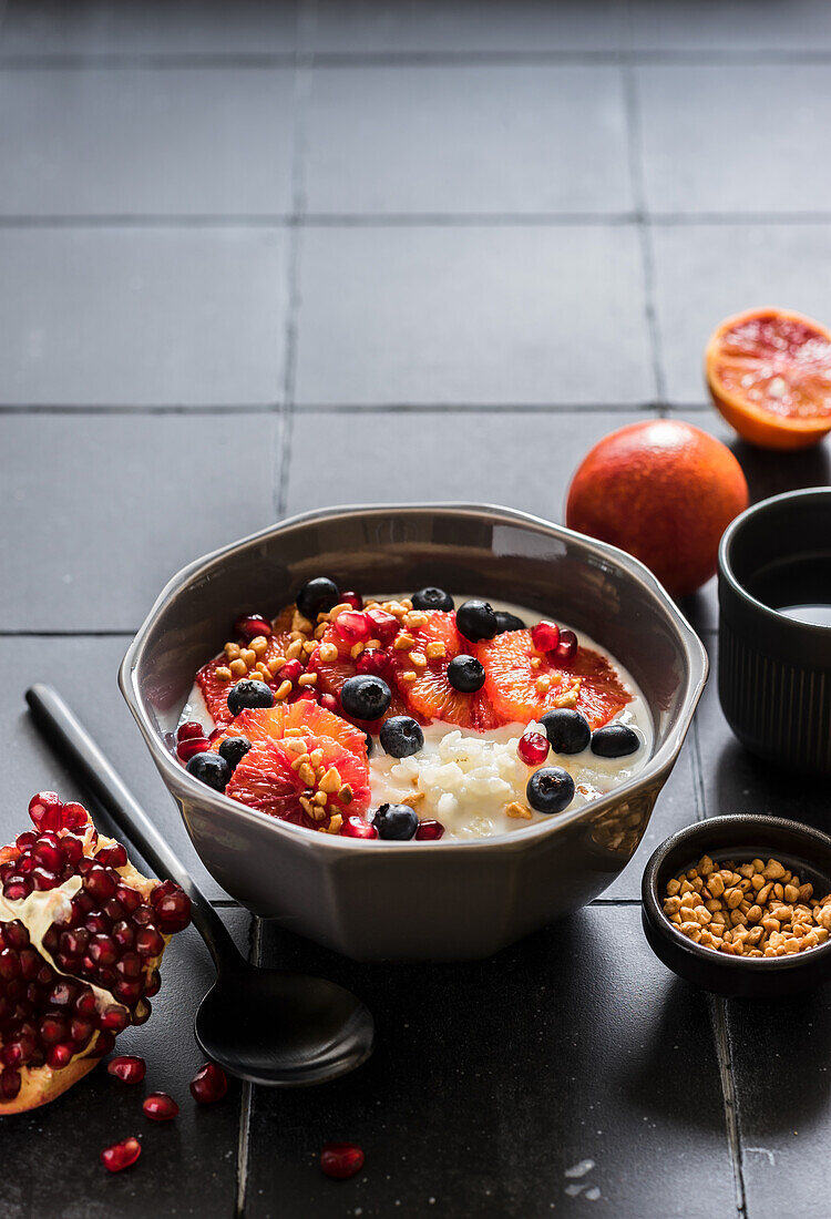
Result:
{"type": "Polygon", "coordinates": [[[534,647],[530,630],[508,630],[480,644],[479,658],[485,691],[502,723],[526,724],[554,707],[576,707],[593,730],[631,702],[599,652],[579,647],[570,661],[554,662],[534,647]]]}

